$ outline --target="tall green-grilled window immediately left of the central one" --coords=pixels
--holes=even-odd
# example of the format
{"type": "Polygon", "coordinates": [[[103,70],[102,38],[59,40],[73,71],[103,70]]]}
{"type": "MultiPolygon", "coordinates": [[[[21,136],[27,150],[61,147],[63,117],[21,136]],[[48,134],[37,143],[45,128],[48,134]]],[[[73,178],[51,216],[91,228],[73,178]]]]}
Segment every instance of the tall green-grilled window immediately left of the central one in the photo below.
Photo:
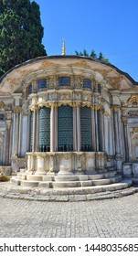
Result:
{"type": "Polygon", "coordinates": [[[39,110],[39,136],[40,152],[50,151],[50,108],[43,107],[39,110]]]}

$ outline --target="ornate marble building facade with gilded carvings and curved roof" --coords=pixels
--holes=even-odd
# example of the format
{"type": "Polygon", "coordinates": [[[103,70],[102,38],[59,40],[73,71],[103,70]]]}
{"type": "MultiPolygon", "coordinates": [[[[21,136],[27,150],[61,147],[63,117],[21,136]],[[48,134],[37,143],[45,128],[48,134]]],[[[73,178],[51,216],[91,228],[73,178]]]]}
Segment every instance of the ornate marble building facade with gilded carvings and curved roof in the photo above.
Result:
{"type": "Polygon", "coordinates": [[[137,176],[138,83],[78,56],[9,70],[0,80],[0,166],[13,175],[137,176]]]}

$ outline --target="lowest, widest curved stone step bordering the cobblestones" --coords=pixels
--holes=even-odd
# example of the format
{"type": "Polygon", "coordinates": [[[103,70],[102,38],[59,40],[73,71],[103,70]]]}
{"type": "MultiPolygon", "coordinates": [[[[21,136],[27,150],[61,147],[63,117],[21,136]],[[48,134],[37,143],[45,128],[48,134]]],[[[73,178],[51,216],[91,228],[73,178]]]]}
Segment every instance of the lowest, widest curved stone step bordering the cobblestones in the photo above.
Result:
{"type": "Polygon", "coordinates": [[[133,195],[138,187],[132,187],[132,178],[123,179],[122,182],[96,187],[69,187],[48,189],[44,187],[21,187],[2,183],[0,197],[18,198],[38,201],[84,201],[102,200],[133,195]]]}

